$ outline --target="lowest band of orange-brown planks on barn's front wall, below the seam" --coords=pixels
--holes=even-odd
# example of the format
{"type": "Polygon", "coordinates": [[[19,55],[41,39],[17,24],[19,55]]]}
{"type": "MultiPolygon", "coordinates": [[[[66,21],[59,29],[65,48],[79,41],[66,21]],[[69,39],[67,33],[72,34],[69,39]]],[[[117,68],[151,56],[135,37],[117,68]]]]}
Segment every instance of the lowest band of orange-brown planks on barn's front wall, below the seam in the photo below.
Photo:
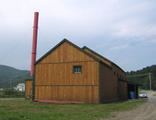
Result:
{"type": "Polygon", "coordinates": [[[80,101],[97,103],[98,87],[93,86],[38,86],[38,100],[80,101]],[[48,93],[48,94],[45,94],[48,93]]]}

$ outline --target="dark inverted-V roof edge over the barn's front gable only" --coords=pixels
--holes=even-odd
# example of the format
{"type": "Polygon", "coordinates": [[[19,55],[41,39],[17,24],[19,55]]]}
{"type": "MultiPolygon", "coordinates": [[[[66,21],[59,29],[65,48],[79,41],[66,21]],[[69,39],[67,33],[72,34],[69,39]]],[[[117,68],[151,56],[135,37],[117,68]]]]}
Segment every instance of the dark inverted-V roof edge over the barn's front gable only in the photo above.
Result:
{"type": "Polygon", "coordinates": [[[82,51],[83,53],[85,53],[86,55],[90,56],[91,58],[93,58],[94,60],[100,62],[100,60],[98,60],[96,57],[93,57],[92,55],[88,54],[87,52],[85,52],[83,49],[81,49],[79,46],[73,44],[72,42],[70,42],[67,39],[63,39],[60,43],[58,43],[55,47],[53,47],[52,49],[50,49],[46,54],[44,54],[41,58],[39,58],[35,64],[38,64],[40,61],[42,61],[45,57],[47,57],[51,52],[53,52],[56,48],[58,48],[60,45],[62,45],[64,42],[69,43],[70,45],[72,45],[73,47],[75,47],[76,49],[82,51]]]}

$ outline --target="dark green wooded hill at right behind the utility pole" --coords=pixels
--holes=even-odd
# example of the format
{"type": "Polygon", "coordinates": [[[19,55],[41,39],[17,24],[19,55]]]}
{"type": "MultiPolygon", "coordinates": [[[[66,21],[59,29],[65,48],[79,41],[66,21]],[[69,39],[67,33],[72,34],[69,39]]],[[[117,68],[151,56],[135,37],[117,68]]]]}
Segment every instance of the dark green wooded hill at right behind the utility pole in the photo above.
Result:
{"type": "Polygon", "coordinates": [[[127,72],[128,81],[142,85],[142,88],[149,89],[149,73],[151,73],[152,89],[156,90],[156,65],[145,67],[141,70],[127,72]]]}

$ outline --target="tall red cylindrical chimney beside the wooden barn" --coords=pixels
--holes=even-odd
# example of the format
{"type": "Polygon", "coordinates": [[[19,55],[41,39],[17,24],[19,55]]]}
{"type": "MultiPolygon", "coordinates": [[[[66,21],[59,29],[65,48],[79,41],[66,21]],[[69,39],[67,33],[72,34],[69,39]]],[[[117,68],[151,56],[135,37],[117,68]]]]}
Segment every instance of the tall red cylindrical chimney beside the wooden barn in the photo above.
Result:
{"type": "Polygon", "coordinates": [[[33,40],[32,40],[32,57],[30,75],[33,77],[35,72],[36,50],[37,50],[37,32],[38,32],[39,13],[34,13],[33,40]]]}

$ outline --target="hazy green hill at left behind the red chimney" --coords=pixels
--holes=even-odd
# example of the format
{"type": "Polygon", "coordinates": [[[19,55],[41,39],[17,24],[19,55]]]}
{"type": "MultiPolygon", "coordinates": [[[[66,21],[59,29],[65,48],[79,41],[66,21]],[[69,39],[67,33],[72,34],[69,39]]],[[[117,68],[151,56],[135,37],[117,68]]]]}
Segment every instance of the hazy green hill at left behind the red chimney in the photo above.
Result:
{"type": "Polygon", "coordinates": [[[15,85],[24,82],[27,78],[30,78],[30,76],[26,70],[0,65],[0,88],[15,87],[15,85]]]}

